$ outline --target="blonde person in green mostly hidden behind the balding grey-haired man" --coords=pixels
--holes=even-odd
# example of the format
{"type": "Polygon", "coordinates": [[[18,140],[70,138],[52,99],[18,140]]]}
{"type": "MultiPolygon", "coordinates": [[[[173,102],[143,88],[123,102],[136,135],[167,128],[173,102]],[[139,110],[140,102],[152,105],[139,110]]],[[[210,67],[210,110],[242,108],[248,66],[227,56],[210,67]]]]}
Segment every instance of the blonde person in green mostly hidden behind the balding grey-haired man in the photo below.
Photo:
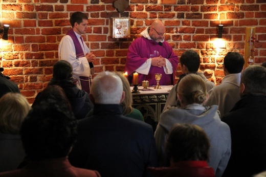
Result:
{"type": "MultiPolygon", "coordinates": [[[[132,94],[130,90],[130,84],[127,80],[127,78],[121,74],[121,73],[116,73],[122,80],[123,83],[123,91],[125,92],[125,98],[123,102],[121,103],[121,106],[123,107],[123,116],[134,118],[137,120],[144,121],[143,115],[138,109],[135,109],[132,107],[133,99],[132,99],[132,94]]],[[[86,117],[90,117],[93,115],[93,110],[91,110],[86,117]]]]}

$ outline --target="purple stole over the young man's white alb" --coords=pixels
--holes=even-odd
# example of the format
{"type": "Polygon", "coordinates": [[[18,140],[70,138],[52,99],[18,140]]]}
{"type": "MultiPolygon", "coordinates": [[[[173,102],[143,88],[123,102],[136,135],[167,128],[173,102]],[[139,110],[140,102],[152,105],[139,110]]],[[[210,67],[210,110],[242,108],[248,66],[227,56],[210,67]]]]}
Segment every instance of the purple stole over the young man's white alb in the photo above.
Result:
{"type": "MultiPolygon", "coordinates": [[[[74,46],[75,46],[75,50],[76,50],[76,58],[84,57],[85,56],[84,52],[82,50],[80,42],[79,42],[75,32],[73,31],[73,29],[69,30],[68,33],[66,33],[66,35],[69,35],[74,42],[74,46]]],[[[91,66],[91,64],[90,64],[90,66],[91,66]]],[[[90,78],[84,77],[84,76],[79,76],[79,78],[80,78],[82,90],[84,90],[85,92],[90,94],[90,83],[89,83],[90,78]]]]}

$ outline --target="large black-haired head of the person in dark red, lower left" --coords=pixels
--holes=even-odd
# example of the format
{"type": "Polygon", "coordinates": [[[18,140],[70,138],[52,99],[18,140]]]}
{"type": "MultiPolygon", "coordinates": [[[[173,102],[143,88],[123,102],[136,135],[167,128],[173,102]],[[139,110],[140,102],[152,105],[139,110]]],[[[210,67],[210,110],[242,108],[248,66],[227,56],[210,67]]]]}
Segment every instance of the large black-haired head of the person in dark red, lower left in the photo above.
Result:
{"type": "Polygon", "coordinates": [[[66,157],[74,143],[77,120],[67,104],[48,99],[36,105],[23,122],[20,134],[31,160],[66,157]]]}

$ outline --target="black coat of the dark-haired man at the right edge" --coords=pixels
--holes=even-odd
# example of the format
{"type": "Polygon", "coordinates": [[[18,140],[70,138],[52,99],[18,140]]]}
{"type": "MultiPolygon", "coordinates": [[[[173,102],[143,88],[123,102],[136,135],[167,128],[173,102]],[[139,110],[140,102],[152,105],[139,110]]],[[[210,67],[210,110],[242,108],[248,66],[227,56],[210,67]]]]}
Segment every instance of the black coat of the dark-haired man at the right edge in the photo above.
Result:
{"type": "Polygon", "coordinates": [[[232,154],[223,176],[266,170],[266,97],[247,95],[221,118],[231,130],[232,154]]]}

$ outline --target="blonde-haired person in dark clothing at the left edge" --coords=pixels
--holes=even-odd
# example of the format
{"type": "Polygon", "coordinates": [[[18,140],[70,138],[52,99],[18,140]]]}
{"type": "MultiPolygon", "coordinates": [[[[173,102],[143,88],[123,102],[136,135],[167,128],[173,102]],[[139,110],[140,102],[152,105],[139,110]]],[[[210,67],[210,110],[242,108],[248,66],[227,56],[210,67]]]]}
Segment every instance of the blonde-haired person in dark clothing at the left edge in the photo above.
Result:
{"type": "Polygon", "coordinates": [[[19,130],[30,109],[21,94],[7,93],[0,99],[0,172],[16,169],[25,156],[19,130]]]}

